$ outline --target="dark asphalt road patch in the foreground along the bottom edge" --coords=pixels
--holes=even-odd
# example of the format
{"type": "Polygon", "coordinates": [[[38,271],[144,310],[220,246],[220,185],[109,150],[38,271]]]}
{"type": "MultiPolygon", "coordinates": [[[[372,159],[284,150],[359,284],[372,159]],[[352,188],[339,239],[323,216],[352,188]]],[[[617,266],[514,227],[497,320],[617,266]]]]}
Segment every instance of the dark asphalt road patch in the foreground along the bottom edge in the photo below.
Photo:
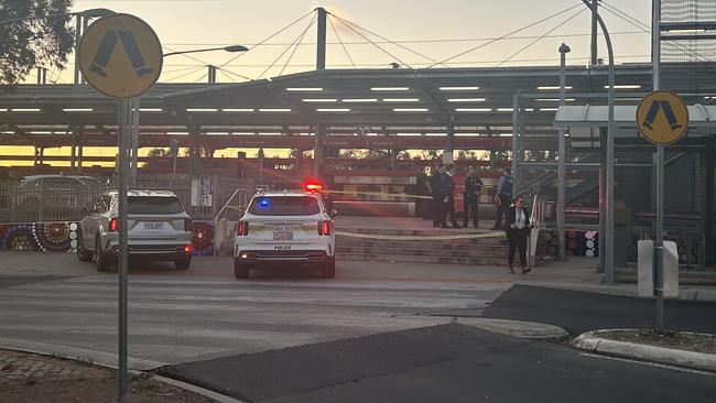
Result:
{"type": "Polygon", "coordinates": [[[708,402],[716,378],[442,325],[162,368],[249,402],[708,402]]]}

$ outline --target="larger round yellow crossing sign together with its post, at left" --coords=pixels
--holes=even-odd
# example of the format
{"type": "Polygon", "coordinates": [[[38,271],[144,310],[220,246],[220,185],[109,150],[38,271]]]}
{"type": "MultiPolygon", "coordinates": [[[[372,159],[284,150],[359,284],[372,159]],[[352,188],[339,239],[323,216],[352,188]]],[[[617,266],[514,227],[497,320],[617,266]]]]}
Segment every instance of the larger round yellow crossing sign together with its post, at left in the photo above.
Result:
{"type": "MultiPolygon", "coordinates": [[[[162,73],[162,45],[154,30],[130,14],[113,14],[93,23],[79,43],[79,67],[95,89],[118,98],[119,151],[119,402],[128,402],[127,379],[127,271],[129,248],[127,208],[131,134],[129,98],[156,83],[162,73]]],[[[134,111],[139,113],[139,111],[134,111]]]]}

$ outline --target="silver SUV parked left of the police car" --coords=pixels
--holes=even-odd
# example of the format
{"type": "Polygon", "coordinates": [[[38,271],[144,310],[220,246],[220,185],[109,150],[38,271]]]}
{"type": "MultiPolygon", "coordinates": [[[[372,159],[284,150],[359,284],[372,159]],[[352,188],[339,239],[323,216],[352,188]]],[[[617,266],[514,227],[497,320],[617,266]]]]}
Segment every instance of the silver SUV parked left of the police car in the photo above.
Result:
{"type": "MultiPolygon", "coordinates": [[[[85,208],[77,242],[77,258],[95,261],[106,271],[119,252],[119,194],[108,192],[85,208]]],[[[150,260],[174,261],[178,270],[192,263],[192,219],[176,195],[167,190],[130,190],[128,193],[129,255],[150,260]]]]}

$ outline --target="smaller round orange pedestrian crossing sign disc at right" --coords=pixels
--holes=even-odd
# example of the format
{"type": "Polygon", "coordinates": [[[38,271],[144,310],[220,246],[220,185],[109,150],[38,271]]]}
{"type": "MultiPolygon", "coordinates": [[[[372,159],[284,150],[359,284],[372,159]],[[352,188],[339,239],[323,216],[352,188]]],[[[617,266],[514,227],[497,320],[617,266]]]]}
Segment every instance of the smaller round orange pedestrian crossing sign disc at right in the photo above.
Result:
{"type": "Polygon", "coordinates": [[[673,144],[688,129],[688,109],[672,91],[649,92],[637,107],[637,128],[654,144],[673,144]]]}

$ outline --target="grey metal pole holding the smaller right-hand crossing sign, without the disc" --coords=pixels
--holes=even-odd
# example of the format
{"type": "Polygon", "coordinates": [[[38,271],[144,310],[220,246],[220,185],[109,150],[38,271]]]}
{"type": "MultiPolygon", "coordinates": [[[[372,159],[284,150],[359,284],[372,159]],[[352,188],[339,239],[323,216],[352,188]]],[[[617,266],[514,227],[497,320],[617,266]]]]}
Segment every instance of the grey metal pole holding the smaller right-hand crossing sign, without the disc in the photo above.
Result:
{"type": "MultiPolygon", "coordinates": [[[[661,72],[661,0],[653,0],[651,25],[651,64],[653,69],[654,91],[659,90],[661,72]]],[[[664,146],[657,145],[657,330],[664,331],[664,146]]]]}

